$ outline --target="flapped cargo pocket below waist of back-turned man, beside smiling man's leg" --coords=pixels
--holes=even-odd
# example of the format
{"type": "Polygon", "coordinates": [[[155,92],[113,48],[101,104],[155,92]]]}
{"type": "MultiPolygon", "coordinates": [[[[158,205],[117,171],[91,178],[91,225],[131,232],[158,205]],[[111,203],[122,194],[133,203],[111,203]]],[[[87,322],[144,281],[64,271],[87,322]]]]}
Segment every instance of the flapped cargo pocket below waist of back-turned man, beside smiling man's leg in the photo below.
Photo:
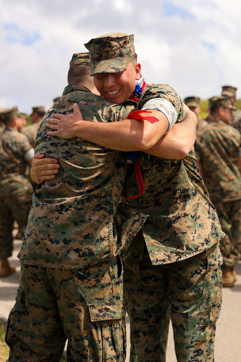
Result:
{"type": "Polygon", "coordinates": [[[124,362],[126,357],[125,305],[89,304],[88,362],[124,362]]]}

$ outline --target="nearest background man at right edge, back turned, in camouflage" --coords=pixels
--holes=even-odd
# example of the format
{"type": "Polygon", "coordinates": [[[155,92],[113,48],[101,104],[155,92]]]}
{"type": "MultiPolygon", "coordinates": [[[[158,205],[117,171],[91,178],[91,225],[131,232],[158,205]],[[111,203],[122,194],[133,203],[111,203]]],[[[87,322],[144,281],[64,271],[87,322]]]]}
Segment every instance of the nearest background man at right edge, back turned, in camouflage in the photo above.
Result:
{"type": "Polygon", "coordinates": [[[230,110],[230,114],[235,110],[227,97],[214,100],[211,104],[212,121],[198,133],[195,149],[210,199],[226,234],[220,241],[224,286],[233,286],[233,277],[236,276],[233,267],[241,253],[241,175],[238,165],[238,159],[241,160],[241,136],[228,124],[229,120],[218,117],[220,107],[230,110]]]}

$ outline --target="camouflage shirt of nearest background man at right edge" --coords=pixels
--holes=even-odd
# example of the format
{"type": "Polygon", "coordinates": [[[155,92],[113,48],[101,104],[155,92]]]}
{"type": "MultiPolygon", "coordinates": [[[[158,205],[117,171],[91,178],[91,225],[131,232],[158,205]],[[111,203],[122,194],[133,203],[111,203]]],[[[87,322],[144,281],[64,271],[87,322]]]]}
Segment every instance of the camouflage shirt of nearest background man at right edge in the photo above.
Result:
{"type": "Polygon", "coordinates": [[[198,132],[195,149],[203,169],[203,179],[212,201],[241,199],[241,176],[237,157],[241,135],[232,126],[219,120],[211,121],[198,132]]]}

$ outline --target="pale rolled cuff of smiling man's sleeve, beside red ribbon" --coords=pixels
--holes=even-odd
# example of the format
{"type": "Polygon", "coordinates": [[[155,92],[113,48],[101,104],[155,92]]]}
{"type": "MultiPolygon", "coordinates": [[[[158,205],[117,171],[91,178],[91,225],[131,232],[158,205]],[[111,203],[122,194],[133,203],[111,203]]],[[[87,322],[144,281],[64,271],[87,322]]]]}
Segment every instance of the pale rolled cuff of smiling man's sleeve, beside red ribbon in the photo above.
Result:
{"type": "Polygon", "coordinates": [[[170,131],[170,129],[177,120],[177,111],[175,107],[171,102],[169,102],[165,98],[152,98],[143,105],[142,109],[143,110],[155,109],[162,112],[167,117],[168,120],[167,132],[170,131]]]}

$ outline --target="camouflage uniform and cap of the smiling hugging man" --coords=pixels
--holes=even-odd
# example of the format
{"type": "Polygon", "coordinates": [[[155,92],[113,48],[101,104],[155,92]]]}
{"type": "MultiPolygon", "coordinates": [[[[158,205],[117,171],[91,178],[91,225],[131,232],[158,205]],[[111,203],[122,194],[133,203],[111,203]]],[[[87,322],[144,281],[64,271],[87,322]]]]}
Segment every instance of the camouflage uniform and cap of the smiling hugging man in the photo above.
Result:
{"type": "MultiPolygon", "coordinates": [[[[87,43],[92,75],[118,72],[116,65],[125,57],[120,37],[106,34],[87,43]]],[[[149,101],[159,108],[147,109],[162,107],[167,118],[167,110],[179,122],[185,117],[180,97],[168,85],[147,85],[137,109],[144,109],[149,101]]],[[[89,138],[93,129],[88,129],[89,138]]],[[[129,198],[139,189],[134,167],[128,165],[126,207],[149,217],[122,254],[131,325],[130,361],[165,361],[170,311],[177,360],[213,361],[221,307],[218,241],[224,234],[198,174],[194,150],[182,160],[148,158],[143,152],[137,157],[145,191],[129,198]]]]}

